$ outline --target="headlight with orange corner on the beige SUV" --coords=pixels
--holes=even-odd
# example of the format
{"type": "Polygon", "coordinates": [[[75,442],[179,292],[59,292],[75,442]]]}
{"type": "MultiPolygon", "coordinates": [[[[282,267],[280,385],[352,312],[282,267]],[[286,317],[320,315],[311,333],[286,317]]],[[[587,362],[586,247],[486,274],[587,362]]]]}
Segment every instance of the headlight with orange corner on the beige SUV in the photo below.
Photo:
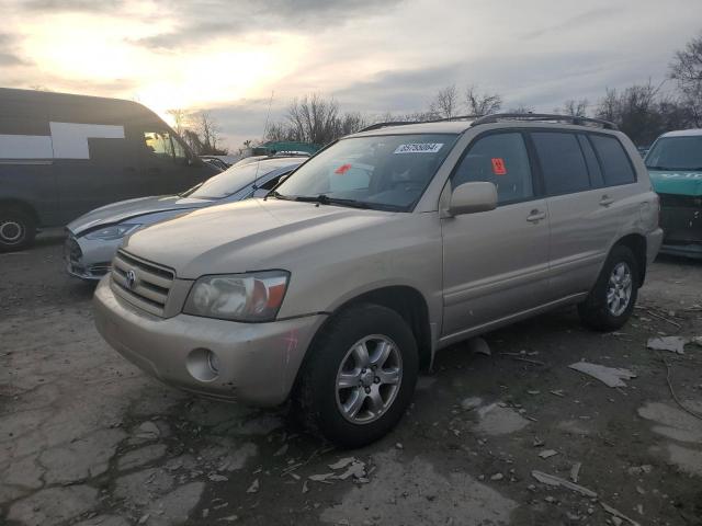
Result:
{"type": "Polygon", "coordinates": [[[285,271],[203,276],[190,289],[183,312],[231,321],[273,321],[288,278],[285,271]]]}

